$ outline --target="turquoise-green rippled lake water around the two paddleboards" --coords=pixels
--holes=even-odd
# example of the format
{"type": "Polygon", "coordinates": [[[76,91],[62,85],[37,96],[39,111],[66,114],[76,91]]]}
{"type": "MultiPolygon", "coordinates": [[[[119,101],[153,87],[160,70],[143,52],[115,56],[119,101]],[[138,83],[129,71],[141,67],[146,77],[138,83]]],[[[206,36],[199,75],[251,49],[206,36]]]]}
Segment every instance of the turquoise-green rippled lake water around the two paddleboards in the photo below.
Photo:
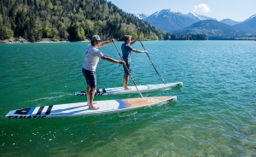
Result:
{"type": "MultiPolygon", "coordinates": [[[[88,117],[5,118],[18,108],[86,102],[74,92],[86,88],[88,44],[0,44],[0,156],[256,156],[255,41],[143,42],[166,82],[183,82],[143,96],[177,102],[88,117]]],[[[101,50],[119,60],[113,44],[101,50]]],[[[162,83],[147,55],[133,53],[131,61],[136,84],[162,83]]],[[[118,64],[101,60],[96,75],[97,88],[122,86],[118,64]]],[[[139,95],[95,100],[130,97],[139,95]]]]}

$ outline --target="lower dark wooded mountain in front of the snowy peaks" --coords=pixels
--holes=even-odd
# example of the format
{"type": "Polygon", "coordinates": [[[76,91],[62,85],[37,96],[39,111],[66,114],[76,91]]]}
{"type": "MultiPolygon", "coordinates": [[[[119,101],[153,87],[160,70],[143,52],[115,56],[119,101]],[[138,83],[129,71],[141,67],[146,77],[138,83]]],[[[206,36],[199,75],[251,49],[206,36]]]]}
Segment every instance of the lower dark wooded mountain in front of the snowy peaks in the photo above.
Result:
{"type": "Polygon", "coordinates": [[[217,20],[201,20],[191,26],[172,32],[172,34],[206,34],[208,37],[252,35],[240,28],[226,25],[217,20]]]}

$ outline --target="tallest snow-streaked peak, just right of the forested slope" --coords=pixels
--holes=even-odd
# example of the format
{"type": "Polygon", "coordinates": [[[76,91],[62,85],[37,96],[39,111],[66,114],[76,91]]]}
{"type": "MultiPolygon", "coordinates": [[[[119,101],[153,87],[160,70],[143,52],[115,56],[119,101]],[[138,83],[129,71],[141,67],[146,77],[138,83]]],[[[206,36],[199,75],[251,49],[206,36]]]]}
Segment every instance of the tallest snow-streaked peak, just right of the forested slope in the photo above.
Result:
{"type": "Polygon", "coordinates": [[[144,20],[147,20],[153,26],[156,26],[160,30],[166,32],[172,32],[183,27],[190,26],[196,22],[196,20],[189,18],[187,15],[183,15],[174,9],[163,9],[149,15],[144,20]]]}

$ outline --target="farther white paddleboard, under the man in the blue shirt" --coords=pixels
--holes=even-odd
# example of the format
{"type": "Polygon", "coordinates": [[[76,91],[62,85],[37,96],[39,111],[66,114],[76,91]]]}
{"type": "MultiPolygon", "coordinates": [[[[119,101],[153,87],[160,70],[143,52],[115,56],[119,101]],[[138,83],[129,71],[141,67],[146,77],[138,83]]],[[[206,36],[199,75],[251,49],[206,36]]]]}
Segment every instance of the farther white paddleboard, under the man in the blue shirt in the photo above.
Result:
{"type": "MultiPolygon", "coordinates": [[[[137,93],[137,89],[141,93],[155,91],[155,90],[164,90],[172,87],[183,86],[183,82],[169,83],[169,84],[148,84],[148,85],[137,85],[129,86],[131,90],[124,90],[123,87],[107,88],[107,89],[97,89],[95,91],[95,96],[112,96],[112,95],[125,95],[125,94],[134,94],[137,93]]],[[[75,92],[76,96],[86,96],[86,91],[75,92]]]]}

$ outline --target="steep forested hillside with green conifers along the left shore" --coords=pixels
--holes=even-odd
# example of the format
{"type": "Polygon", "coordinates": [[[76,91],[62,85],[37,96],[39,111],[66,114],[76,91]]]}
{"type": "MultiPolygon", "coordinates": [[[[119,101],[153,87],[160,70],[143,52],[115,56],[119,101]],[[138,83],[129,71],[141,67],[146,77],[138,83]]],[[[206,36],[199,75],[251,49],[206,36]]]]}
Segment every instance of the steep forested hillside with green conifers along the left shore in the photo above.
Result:
{"type": "Polygon", "coordinates": [[[0,40],[41,38],[81,41],[98,34],[122,40],[125,34],[145,40],[166,39],[147,21],[123,12],[106,0],[1,0],[0,40]]]}

